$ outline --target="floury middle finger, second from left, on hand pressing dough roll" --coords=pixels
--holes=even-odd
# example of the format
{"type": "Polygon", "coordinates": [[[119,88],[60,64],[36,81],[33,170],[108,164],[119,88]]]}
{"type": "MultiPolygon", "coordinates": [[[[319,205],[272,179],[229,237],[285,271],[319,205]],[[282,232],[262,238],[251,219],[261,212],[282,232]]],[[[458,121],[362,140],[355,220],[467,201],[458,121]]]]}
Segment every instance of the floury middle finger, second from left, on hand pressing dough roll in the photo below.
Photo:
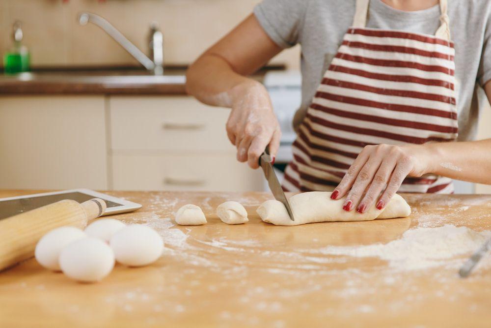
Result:
{"type": "Polygon", "coordinates": [[[344,210],[350,211],[354,208],[356,208],[358,212],[360,210],[364,210],[363,208],[358,208],[358,202],[360,201],[370,182],[372,182],[372,179],[379,169],[381,163],[382,155],[372,153],[368,161],[365,163],[365,165],[363,165],[363,168],[358,173],[358,176],[353,183],[353,187],[346,197],[346,201],[343,205],[344,210]]]}

